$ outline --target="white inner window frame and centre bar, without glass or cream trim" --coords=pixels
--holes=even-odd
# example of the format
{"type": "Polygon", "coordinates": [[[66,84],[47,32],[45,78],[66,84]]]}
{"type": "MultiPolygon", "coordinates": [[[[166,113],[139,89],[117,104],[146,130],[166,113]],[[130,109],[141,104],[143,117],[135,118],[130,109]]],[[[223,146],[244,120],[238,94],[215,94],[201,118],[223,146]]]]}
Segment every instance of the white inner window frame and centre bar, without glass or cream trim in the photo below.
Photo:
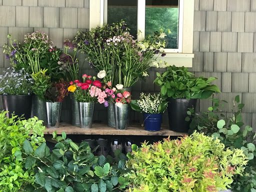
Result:
{"type": "MultiPolygon", "coordinates": [[[[183,38],[183,7],[184,0],[179,1],[179,11],[178,11],[178,48],[165,48],[164,51],[168,52],[182,52],[182,38],[183,38]]],[[[101,2],[102,3],[102,2],[101,2]]],[[[103,24],[107,24],[107,0],[103,0],[103,6],[100,9],[100,17],[103,19],[103,24]],[[103,16],[103,18],[102,18],[103,16]]],[[[138,40],[142,40],[145,38],[145,8],[146,8],[146,0],[137,0],[137,33],[140,31],[141,33],[137,35],[138,40]]]]}

